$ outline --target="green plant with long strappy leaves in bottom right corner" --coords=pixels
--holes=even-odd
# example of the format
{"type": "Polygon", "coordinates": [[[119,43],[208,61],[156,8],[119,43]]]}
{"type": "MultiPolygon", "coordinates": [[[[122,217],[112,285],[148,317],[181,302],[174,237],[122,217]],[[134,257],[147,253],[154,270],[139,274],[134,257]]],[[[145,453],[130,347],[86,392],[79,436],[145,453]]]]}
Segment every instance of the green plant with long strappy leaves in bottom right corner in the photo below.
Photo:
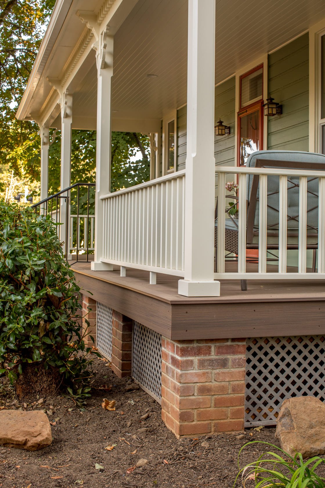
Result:
{"type": "Polygon", "coordinates": [[[263,453],[257,461],[240,469],[233,486],[236,485],[238,477],[241,476],[244,488],[251,486],[256,488],[325,487],[325,478],[318,476],[315,472],[321,463],[325,463],[325,459],[314,456],[304,461],[300,452],[292,457],[280,447],[268,442],[252,441],[245,444],[238,454],[238,468],[240,453],[245,447],[252,444],[266,444],[276,449],[279,454],[272,451],[263,453]]]}

